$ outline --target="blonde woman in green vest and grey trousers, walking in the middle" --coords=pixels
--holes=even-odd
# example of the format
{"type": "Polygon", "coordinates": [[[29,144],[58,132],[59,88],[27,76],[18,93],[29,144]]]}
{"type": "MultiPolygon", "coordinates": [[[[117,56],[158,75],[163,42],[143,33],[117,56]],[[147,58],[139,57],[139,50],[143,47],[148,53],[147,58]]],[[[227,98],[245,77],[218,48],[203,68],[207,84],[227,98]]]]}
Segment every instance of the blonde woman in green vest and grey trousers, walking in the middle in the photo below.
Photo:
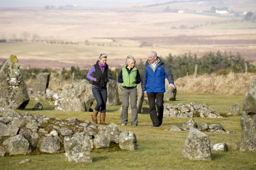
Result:
{"type": "Polygon", "coordinates": [[[132,126],[138,126],[138,108],[137,108],[137,84],[141,82],[141,76],[136,67],[134,67],[135,59],[131,55],[126,58],[125,66],[121,69],[118,82],[122,83],[122,126],[126,126],[128,122],[129,96],[132,109],[132,126]]]}

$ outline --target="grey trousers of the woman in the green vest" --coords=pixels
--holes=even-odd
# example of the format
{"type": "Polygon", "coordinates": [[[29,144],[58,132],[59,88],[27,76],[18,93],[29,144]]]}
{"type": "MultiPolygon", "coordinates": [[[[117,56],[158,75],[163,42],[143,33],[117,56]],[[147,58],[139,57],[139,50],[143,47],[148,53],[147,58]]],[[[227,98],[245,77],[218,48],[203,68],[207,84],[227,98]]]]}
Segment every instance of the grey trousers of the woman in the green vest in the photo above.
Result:
{"type": "Polygon", "coordinates": [[[129,96],[132,110],[132,122],[131,125],[138,125],[138,108],[137,108],[137,88],[125,89],[122,88],[122,113],[121,122],[126,125],[128,122],[128,107],[129,107],[129,96]]]}

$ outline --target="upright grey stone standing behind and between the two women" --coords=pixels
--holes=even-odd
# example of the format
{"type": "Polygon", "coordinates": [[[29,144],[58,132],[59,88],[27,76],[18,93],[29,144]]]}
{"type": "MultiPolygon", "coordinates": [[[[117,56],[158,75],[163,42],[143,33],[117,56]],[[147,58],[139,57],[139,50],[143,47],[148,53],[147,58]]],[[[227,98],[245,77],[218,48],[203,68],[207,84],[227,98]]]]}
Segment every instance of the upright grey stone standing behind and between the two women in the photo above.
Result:
{"type": "Polygon", "coordinates": [[[108,88],[108,105],[120,105],[117,81],[110,79],[107,85],[108,88]]]}

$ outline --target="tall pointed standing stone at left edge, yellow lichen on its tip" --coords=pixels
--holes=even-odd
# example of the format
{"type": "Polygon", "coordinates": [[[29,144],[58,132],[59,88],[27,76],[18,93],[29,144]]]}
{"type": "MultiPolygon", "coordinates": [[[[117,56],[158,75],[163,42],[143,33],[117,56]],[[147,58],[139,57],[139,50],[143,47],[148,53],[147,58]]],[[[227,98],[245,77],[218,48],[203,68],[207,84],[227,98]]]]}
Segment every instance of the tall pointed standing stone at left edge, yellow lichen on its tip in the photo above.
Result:
{"type": "Polygon", "coordinates": [[[11,55],[0,70],[0,107],[24,109],[29,102],[17,57],[11,55]]]}

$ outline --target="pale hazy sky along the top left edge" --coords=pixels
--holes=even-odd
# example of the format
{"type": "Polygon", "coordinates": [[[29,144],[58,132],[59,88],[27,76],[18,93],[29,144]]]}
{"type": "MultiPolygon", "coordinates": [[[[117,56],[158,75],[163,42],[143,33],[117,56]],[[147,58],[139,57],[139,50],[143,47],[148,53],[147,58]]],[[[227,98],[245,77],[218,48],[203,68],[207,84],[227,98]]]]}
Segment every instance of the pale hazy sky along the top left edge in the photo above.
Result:
{"type": "Polygon", "coordinates": [[[0,7],[45,7],[76,4],[81,7],[104,7],[162,0],[0,0],[0,7]]]}

